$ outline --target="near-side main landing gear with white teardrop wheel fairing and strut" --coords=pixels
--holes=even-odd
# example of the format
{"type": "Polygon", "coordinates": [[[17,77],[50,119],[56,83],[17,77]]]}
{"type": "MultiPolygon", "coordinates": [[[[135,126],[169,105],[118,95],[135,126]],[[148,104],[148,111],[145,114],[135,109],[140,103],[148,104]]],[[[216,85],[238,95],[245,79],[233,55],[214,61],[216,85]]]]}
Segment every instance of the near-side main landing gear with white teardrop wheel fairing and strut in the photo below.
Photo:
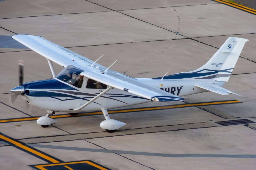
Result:
{"type": "Polygon", "coordinates": [[[106,120],[104,120],[103,122],[100,123],[100,127],[102,129],[106,130],[108,133],[113,133],[116,131],[116,129],[119,129],[126,125],[123,122],[120,122],[120,121],[117,121],[114,119],[110,119],[106,108],[102,108],[101,110],[102,110],[106,120]]]}

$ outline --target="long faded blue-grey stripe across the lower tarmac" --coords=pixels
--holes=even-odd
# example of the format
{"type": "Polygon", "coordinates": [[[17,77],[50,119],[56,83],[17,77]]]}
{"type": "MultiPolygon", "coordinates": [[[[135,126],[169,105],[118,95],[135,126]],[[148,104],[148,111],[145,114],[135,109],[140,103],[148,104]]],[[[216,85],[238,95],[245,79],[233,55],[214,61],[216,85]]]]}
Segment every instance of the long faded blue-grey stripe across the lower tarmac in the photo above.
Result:
{"type": "Polygon", "coordinates": [[[152,152],[135,152],[135,151],[122,151],[122,150],[107,150],[107,149],[92,149],[92,148],[78,148],[67,146],[54,146],[54,145],[29,145],[35,148],[49,148],[49,149],[63,149],[72,151],[87,151],[87,152],[101,152],[101,153],[118,153],[130,155],[145,155],[145,156],[163,156],[172,158],[256,158],[256,155],[234,155],[234,154],[168,154],[168,153],[152,153],[152,152]]]}

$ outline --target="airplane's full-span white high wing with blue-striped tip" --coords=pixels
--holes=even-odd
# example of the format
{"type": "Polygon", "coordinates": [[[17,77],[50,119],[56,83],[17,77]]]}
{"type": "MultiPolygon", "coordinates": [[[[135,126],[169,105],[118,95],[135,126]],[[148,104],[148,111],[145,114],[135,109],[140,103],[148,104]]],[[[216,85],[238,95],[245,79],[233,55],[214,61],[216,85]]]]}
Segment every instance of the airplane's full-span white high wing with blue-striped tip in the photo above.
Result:
{"type": "Polygon", "coordinates": [[[119,72],[113,70],[108,70],[107,72],[104,72],[106,70],[106,67],[101,66],[98,63],[95,63],[92,67],[91,65],[94,63],[92,60],[76,54],[55,43],[52,43],[43,37],[18,34],[13,35],[12,38],[27,46],[36,53],[63,67],[67,67],[69,65],[78,67],[84,70],[84,72],[81,73],[82,76],[86,76],[90,79],[99,81],[111,87],[128,91],[129,93],[138,95],[152,101],[184,100],[184,98],[182,97],[175,96],[166,91],[142,84],[137,79],[123,75],[119,72]]]}

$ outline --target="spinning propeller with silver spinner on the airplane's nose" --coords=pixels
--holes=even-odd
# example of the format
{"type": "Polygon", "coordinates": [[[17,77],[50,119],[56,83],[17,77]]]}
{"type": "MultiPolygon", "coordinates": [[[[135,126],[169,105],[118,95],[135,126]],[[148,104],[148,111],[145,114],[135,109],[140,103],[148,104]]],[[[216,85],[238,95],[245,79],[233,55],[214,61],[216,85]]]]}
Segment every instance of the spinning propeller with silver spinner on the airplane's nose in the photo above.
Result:
{"type": "MultiPolygon", "coordinates": [[[[13,106],[13,103],[15,102],[17,97],[19,95],[23,96],[25,92],[24,86],[22,85],[23,79],[24,79],[24,62],[22,60],[19,60],[18,62],[18,71],[19,71],[18,72],[19,86],[10,90],[10,92],[12,92],[12,94],[9,95],[10,106],[13,106]]],[[[28,112],[30,113],[31,105],[27,101],[25,102],[26,102],[28,112]]]]}

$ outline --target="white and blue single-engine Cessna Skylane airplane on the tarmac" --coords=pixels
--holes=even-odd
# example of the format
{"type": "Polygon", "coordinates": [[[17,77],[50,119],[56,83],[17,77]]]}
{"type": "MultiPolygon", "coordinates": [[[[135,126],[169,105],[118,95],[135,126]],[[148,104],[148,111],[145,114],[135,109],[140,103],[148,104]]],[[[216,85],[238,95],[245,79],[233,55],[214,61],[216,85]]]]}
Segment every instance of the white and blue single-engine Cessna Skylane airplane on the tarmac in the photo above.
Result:
{"type": "MultiPolygon", "coordinates": [[[[21,95],[34,106],[47,111],[37,120],[42,127],[57,123],[49,117],[55,112],[78,115],[82,111],[101,110],[106,120],[100,127],[115,132],[125,123],[110,119],[108,109],[151,101],[182,101],[186,96],[212,91],[221,95],[236,94],[223,88],[234,69],[244,38],[229,37],[212,58],[197,70],[152,79],[133,78],[76,54],[34,35],[13,35],[12,38],[48,60],[53,79],[23,83],[23,62],[19,61],[19,86],[10,90],[10,102],[21,95]],[[65,69],[56,75],[52,62],[65,69]],[[15,95],[15,96],[14,96],[15,95]]],[[[101,56],[102,57],[102,56],[101,56]]],[[[238,94],[236,94],[238,95],[238,94]]],[[[239,95],[240,96],[240,95],[239,95]]]]}

